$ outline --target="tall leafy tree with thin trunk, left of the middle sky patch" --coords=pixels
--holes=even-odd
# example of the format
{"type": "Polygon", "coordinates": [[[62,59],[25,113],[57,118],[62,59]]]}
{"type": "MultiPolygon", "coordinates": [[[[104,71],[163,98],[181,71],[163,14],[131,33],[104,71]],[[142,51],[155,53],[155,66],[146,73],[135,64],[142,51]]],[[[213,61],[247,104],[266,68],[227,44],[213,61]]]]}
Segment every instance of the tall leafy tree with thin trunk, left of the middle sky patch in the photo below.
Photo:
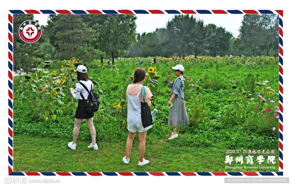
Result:
{"type": "Polygon", "coordinates": [[[130,14],[103,14],[90,15],[88,26],[97,33],[99,48],[112,56],[112,65],[114,65],[114,56],[127,54],[126,49],[132,42],[136,41],[136,23],[137,17],[130,14]]]}

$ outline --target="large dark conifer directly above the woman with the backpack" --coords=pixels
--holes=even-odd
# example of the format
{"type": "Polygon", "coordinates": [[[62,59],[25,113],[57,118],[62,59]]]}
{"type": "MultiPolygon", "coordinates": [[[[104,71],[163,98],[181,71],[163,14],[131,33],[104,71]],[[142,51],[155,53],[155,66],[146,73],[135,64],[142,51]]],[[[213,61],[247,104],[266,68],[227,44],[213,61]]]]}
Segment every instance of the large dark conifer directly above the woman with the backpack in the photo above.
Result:
{"type": "Polygon", "coordinates": [[[50,15],[47,23],[46,32],[59,58],[76,57],[90,62],[101,54],[91,46],[96,33],[82,21],[81,15],[50,15]]]}

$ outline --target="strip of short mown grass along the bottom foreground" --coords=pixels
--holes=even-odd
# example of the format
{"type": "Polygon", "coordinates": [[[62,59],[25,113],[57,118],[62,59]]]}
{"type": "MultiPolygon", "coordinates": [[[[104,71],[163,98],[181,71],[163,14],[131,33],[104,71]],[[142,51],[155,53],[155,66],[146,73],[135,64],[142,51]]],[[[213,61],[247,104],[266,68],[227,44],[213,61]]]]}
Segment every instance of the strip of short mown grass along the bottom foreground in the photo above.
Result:
{"type": "MultiPolygon", "coordinates": [[[[138,134],[137,134],[138,135],[138,134]]],[[[177,139],[174,139],[177,140],[177,139]]],[[[225,163],[228,149],[220,144],[209,148],[179,147],[168,140],[149,142],[146,138],[145,159],[150,163],[138,166],[138,137],[133,141],[130,163],[124,164],[122,158],[126,153],[126,139],[121,143],[97,142],[98,150],[88,149],[90,141],[77,140],[77,149],[71,150],[67,143],[71,139],[32,137],[14,135],[13,171],[14,172],[277,172],[276,164],[265,162],[259,164],[254,155],[253,164],[236,163],[236,155],[231,165],[225,163]],[[258,167],[255,169],[225,169],[225,166],[258,167]],[[274,166],[275,169],[263,169],[259,166],[274,166]]],[[[121,140],[122,141],[122,140],[121,140]]],[[[279,157],[278,152],[274,154],[279,157]]]]}

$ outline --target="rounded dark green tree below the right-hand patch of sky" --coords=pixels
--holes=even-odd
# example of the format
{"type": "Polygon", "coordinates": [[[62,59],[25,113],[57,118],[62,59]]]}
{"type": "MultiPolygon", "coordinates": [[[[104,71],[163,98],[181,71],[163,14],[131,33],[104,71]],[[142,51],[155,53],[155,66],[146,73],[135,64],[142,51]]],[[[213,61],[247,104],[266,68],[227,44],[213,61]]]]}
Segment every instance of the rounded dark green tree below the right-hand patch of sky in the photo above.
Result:
{"type": "Polygon", "coordinates": [[[227,53],[232,34],[225,31],[222,26],[217,27],[213,23],[208,24],[206,28],[208,30],[208,49],[211,51],[212,56],[216,56],[218,52],[227,53]]]}

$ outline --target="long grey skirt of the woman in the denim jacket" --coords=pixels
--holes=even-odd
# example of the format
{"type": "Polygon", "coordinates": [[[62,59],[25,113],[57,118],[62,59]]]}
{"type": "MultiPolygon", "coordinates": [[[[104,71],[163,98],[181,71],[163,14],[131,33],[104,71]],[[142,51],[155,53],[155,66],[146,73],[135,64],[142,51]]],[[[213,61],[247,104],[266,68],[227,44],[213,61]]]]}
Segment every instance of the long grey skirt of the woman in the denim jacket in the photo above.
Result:
{"type": "Polygon", "coordinates": [[[175,97],[172,103],[173,106],[169,109],[168,125],[180,127],[190,124],[185,107],[185,100],[180,97],[175,97]]]}

